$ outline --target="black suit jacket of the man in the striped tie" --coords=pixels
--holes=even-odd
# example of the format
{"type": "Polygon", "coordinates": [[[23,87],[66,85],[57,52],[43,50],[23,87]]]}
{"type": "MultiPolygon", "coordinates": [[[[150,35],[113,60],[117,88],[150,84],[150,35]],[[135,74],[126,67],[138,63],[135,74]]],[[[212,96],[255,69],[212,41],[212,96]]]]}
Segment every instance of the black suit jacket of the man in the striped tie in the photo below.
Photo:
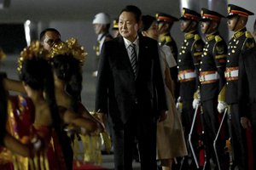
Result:
{"type": "Polygon", "coordinates": [[[96,111],[109,112],[115,124],[127,122],[134,114],[156,116],[160,110],[167,110],[167,106],[157,42],[139,37],[136,79],[123,37],[105,42],[98,69],[96,111]]]}

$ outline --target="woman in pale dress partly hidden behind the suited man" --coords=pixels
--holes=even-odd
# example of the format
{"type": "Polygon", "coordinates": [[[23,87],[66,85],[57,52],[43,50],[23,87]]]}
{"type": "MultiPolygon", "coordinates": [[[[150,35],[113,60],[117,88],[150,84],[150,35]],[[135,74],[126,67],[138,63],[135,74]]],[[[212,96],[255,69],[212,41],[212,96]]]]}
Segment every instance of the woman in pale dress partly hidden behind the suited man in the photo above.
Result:
{"type": "MultiPolygon", "coordinates": [[[[143,15],[141,33],[145,37],[158,40],[159,31],[156,19],[150,15],[143,15]]],[[[171,170],[174,157],[187,156],[187,147],[183,135],[183,126],[177,114],[172,91],[172,77],[166,58],[172,58],[170,64],[176,65],[170,48],[160,46],[160,64],[163,79],[165,80],[166,101],[168,102],[168,115],[166,120],[157,124],[157,160],[161,161],[163,170],[171,170]],[[171,55],[167,57],[166,55],[171,55]]]]}

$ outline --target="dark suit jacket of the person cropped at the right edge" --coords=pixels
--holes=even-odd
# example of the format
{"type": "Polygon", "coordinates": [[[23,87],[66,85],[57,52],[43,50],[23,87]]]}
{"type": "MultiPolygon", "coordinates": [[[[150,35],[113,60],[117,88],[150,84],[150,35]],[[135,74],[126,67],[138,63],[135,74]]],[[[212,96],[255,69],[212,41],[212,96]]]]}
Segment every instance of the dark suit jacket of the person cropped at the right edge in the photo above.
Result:
{"type": "Polygon", "coordinates": [[[238,99],[241,116],[256,111],[256,48],[241,53],[239,62],[238,99]]]}

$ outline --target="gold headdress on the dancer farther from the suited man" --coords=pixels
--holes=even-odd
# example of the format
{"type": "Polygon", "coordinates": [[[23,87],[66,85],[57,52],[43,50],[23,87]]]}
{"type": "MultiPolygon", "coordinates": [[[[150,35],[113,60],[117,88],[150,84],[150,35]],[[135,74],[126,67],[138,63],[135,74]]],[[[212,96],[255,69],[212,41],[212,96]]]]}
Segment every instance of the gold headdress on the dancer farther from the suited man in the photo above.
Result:
{"type": "Polygon", "coordinates": [[[48,51],[44,49],[44,47],[41,45],[39,41],[34,41],[31,43],[30,46],[24,48],[20,52],[20,58],[18,59],[18,68],[17,70],[20,72],[23,62],[26,59],[32,59],[34,57],[42,57],[44,59],[48,58],[48,51]]]}

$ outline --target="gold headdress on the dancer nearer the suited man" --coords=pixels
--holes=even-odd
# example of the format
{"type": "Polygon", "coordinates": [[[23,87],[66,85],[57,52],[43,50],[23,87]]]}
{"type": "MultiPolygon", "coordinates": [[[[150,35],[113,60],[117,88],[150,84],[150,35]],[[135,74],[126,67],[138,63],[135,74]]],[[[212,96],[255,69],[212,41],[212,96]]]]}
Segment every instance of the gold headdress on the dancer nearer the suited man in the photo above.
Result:
{"type": "Polygon", "coordinates": [[[87,56],[87,53],[84,50],[84,47],[79,45],[79,42],[76,38],[69,38],[66,42],[56,43],[50,51],[50,58],[54,58],[58,54],[68,54],[73,55],[75,59],[78,59],[80,65],[84,65],[84,60],[87,56]]]}

